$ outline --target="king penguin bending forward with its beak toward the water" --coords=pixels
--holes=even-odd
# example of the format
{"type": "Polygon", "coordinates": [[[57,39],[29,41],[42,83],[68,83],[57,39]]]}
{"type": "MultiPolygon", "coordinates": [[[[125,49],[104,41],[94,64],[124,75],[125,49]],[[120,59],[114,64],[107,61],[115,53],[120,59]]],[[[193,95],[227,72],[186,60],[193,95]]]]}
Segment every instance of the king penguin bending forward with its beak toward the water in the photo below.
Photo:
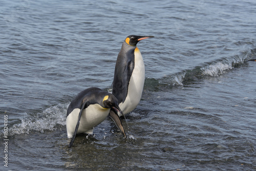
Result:
{"type": "Polygon", "coordinates": [[[118,129],[126,137],[117,111],[122,114],[116,97],[99,88],[89,88],[81,91],[71,101],[67,111],[67,134],[72,138],[69,144],[74,143],[77,133],[93,134],[95,126],[100,124],[110,113],[118,129]]]}

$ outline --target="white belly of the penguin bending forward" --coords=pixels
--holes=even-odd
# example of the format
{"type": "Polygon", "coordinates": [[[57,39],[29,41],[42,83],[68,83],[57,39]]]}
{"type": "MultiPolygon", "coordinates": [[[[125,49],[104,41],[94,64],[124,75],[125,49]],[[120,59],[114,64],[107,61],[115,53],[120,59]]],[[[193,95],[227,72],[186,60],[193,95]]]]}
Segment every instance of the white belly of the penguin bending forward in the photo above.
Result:
{"type": "MultiPolygon", "coordinates": [[[[72,138],[78,120],[80,109],[74,109],[67,117],[68,138],[72,138]]],[[[100,124],[108,115],[110,109],[102,108],[99,104],[91,104],[82,111],[77,133],[93,134],[95,126],[100,124]]]]}

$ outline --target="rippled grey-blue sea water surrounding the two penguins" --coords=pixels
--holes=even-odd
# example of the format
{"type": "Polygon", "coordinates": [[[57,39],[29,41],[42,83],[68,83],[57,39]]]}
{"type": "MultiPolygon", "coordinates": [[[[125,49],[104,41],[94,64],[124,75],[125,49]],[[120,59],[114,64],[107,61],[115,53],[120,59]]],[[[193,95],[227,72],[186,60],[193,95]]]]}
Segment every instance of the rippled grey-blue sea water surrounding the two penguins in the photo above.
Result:
{"type": "Polygon", "coordinates": [[[0,169],[256,170],[256,62],[248,61],[256,58],[255,7],[1,1],[0,169]],[[131,34],[155,37],[137,45],[145,84],[122,119],[127,139],[106,118],[68,148],[69,103],[89,87],[112,91],[131,34]]]}

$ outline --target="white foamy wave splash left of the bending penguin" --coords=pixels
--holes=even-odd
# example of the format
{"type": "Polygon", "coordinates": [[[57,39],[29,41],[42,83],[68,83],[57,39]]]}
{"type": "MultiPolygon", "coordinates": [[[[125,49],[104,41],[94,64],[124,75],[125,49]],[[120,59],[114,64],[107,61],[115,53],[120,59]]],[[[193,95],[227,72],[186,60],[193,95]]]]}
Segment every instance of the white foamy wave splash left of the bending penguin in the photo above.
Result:
{"type": "Polygon", "coordinates": [[[29,115],[25,113],[25,117],[21,119],[22,123],[14,124],[9,134],[29,134],[31,130],[44,133],[44,130],[55,130],[57,124],[66,125],[66,114],[68,104],[58,104],[48,108],[42,113],[29,115]]]}

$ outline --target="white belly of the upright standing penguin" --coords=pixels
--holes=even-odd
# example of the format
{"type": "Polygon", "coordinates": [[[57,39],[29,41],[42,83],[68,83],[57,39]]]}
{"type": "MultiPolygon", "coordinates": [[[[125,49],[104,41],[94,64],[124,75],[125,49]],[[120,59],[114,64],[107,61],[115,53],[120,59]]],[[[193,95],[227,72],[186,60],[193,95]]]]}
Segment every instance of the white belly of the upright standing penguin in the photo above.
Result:
{"type": "MultiPolygon", "coordinates": [[[[129,82],[127,96],[119,104],[123,114],[132,112],[139,104],[145,80],[145,66],[138,48],[135,49],[135,66],[129,82]]],[[[120,113],[118,113],[121,116],[120,113]]]]}

